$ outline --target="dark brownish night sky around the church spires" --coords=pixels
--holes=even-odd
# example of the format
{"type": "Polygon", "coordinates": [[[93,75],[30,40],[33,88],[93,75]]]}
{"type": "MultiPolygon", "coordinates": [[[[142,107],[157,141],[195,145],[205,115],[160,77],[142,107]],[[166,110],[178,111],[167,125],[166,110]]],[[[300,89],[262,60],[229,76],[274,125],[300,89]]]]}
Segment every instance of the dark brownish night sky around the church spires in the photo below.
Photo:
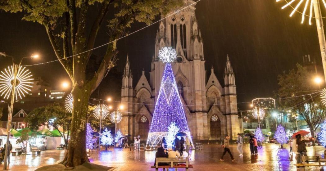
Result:
{"type": "MultiPolygon", "coordinates": [[[[278,88],[277,75],[294,68],[305,54],[315,57],[317,64],[321,64],[315,20],[313,25],[309,25],[307,19],[301,24],[301,15],[296,13],[290,18],[291,10],[282,10],[281,6],[282,3],[274,0],[202,0],[196,5],[206,70],[210,74],[213,65],[223,85],[226,55],[229,54],[236,74],[238,102],[273,96],[273,91],[278,88]]],[[[22,14],[0,12],[0,51],[15,57],[34,52],[41,55],[38,61],[26,60],[24,64],[55,60],[44,28],[21,18],[22,14]]],[[[130,31],[143,26],[145,24],[135,23],[130,31]]],[[[127,53],[135,80],[141,76],[142,68],[146,72],[150,70],[157,29],[158,24],[155,24],[119,40],[117,72],[122,72],[127,53]]],[[[108,42],[105,27],[99,34],[97,45],[108,42]]],[[[101,56],[104,50],[101,48],[94,53],[101,56]]],[[[10,64],[9,59],[0,57],[0,61],[0,68],[10,64]]],[[[52,85],[59,85],[63,79],[68,80],[58,62],[29,69],[35,77],[42,76],[52,85]]],[[[112,81],[106,85],[110,90],[119,90],[121,86],[112,81]]]]}

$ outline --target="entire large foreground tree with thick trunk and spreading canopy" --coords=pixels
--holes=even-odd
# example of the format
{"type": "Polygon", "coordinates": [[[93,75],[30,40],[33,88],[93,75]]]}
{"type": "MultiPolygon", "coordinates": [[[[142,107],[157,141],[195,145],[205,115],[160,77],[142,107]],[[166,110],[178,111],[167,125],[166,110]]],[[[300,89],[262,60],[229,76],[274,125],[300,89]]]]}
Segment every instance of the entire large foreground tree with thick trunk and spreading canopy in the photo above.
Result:
{"type": "Polygon", "coordinates": [[[160,13],[164,15],[181,6],[183,0],[2,0],[0,3],[1,9],[24,12],[24,20],[44,26],[56,57],[72,81],[72,134],[63,161],[72,167],[89,162],[85,149],[88,100],[115,64],[117,39],[126,34],[126,28],[134,21],[149,24],[160,13]],[[98,6],[98,11],[92,6],[98,6]],[[87,16],[89,12],[97,16],[93,19],[87,16]],[[86,79],[85,68],[104,22],[108,42],[113,43],[107,44],[93,77],[86,79]]]}

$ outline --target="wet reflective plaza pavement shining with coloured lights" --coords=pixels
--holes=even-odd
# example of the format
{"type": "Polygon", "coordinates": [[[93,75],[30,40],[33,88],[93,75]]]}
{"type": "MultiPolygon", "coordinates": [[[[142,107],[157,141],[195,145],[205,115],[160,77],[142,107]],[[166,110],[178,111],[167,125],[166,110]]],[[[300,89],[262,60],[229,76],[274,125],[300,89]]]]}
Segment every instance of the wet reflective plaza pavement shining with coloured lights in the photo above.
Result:
{"type": "MultiPolygon", "coordinates": [[[[224,162],[220,162],[223,149],[217,144],[204,144],[203,150],[190,151],[190,164],[194,165],[194,171],[213,171],[213,170],[296,170],[293,164],[295,159],[290,161],[291,155],[289,148],[279,149],[276,144],[263,144],[262,149],[258,150],[258,155],[251,155],[249,145],[244,144],[244,156],[238,157],[237,145],[230,145],[230,150],[236,161],[231,162],[227,153],[224,156],[224,162]]],[[[308,155],[322,155],[324,148],[320,146],[307,147],[308,155]]],[[[134,170],[155,170],[151,169],[154,164],[156,151],[130,151],[123,149],[119,151],[117,148],[111,148],[110,151],[92,151],[89,152],[89,159],[92,163],[116,167],[115,171],[134,171],[134,170]]],[[[22,156],[10,156],[9,170],[31,171],[36,168],[48,164],[55,164],[64,158],[64,150],[47,150],[42,151],[41,155],[35,156],[31,154],[22,156]]],[[[319,170],[320,167],[310,167],[306,170],[319,170]]],[[[2,169],[2,166],[0,170],[2,169]]],[[[326,167],[324,168],[326,169],[326,167]]],[[[184,170],[184,169],[179,169],[184,170]]]]}

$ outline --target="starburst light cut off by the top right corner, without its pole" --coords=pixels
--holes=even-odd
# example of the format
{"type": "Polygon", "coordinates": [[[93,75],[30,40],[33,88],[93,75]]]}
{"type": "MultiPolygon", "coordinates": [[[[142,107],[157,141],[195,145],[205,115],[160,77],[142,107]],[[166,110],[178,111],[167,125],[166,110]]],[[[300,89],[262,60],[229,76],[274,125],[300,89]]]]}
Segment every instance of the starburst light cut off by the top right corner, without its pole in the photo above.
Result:
{"type": "MultiPolygon", "coordinates": [[[[279,2],[281,0],[276,0],[279,2]]],[[[282,6],[282,9],[286,7],[291,7],[292,12],[290,13],[290,17],[293,16],[295,12],[298,12],[302,15],[301,23],[304,23],[305,17],[309,17],[309,25],[311,25],[311,19],[313,18],[313,10],[314,10],[314,1],[315,3],[324,4],[326,8],[326,1],[325,0],[283,0],[286,4],[282,6]],[[318,2],[319,1],[319,2],[318,2]]]]}

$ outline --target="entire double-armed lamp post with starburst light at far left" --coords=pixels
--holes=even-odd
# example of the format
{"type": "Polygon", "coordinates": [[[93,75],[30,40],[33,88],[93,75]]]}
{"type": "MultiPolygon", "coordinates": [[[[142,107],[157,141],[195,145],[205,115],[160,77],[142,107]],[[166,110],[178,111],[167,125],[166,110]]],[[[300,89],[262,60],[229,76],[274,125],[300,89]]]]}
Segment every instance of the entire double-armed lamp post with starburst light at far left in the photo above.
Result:
{"type": "Polygon", "coordinates": [[[1,95],[5,95],[5,98],[7,97],[7,99],[8,99],[11,94],[10,107],[9,107],[9,112],[8,112],[7,130],[6,130],[7,141],[6,141],[4,167],[3,167],[4,170],[7,170],[9,135],[10,135],[12,111],[13,111],[13,107],[14,107],[15,96],[16,96],[16,99],[18,98],[18,96],[20,98],[22,98],[22,95],[24,95],[24,93],[27,93],[27,91],[30,91],[29,88],[32,87],[31,84],[33,84],[33,82],[31,82],[31,80],[33,80],[33,78],[31,78],[31,76],[32,76],[30,74],[31,72],[28,72],[28,70],[25,70],[25,68],[22,68],[22,66],[21,66],[22,60],[24,58],[38,58],[39,56],[32,55],[29,57],[23,57],[18,65],[18,64],[15,64],[14,58],[12,56],[8,56],[3,52],[0,52],[0,55],[2,55],[4,57],[11,57],[12,63],[13,63],[11,69],[8,67],[9,72],[7,70],[5,70],[5,73],[2,72],[3,75],[1,75],[1,77],[0,77],[0,80],[2,83],[0,85],[0,92],[2,93],[1,95]],[[17,89],[17,91],[16,91],[16,89],[17,89]]]}

